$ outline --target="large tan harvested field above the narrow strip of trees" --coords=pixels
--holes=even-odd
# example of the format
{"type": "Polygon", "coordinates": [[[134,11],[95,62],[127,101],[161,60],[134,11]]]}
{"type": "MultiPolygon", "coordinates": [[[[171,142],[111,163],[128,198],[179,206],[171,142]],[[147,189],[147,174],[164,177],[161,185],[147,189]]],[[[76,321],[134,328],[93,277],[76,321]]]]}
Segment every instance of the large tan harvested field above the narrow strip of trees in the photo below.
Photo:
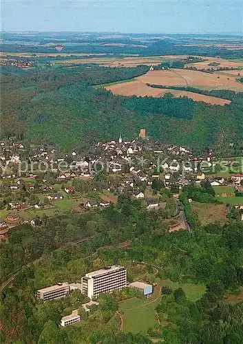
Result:
{"type": "Polygon", "coordinates": [[[243,91],[243,85],[235,80],[235,76],[227,76],[220,73],[209,74],[191,69],[149,71],[142,76],[138,76],[137,79],[145,84],[243,91]]]}

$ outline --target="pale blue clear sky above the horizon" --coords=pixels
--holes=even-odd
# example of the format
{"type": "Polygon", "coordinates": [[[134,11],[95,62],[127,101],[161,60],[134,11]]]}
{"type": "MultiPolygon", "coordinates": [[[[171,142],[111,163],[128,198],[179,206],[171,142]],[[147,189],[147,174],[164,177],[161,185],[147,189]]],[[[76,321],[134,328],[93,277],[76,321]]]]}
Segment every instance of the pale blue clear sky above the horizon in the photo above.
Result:
{"type": "Polygon", "coordinates": [[[1,30],[243,35],[243,0],[1,0],[1,30]]]}

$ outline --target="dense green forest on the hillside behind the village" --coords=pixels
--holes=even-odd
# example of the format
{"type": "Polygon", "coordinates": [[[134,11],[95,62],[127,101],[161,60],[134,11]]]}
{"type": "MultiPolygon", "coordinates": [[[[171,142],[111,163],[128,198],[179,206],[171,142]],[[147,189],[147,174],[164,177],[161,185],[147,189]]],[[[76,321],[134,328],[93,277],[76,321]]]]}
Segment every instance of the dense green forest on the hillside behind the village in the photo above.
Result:
{"type": "MultiPolygon", "coordinates": [[[[197,152],[215,146],[220,155],[240,155],[240,101],[220,107],[187,98],[114,96],[92,87],[133,78],[147,68],[59,67],[4,75],[1,138],[16,136],[36,144],[58,144],[63,151],[83,150],[94,142],[112,140],[119,132],[125,139],[133,139],[145,127],[148,136],[162,143],[183,144],[197,152]],[[233,150],[229,147],[232,142],[233,150]]],[[[220,94],[234,96],[227,91],[220,94]]]]}

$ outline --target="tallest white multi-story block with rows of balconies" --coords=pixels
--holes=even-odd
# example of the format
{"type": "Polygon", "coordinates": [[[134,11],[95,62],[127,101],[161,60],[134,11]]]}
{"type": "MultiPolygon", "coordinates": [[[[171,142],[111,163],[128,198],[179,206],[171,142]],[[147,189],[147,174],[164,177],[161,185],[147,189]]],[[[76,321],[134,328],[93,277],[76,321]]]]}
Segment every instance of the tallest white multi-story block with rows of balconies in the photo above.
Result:
{"type": "Polygon", "coordinates": [[[105,266],[101,270],[88,272],[82,277],[82,294],[95,299],[104,292],[121,290],[127,286],[127,269],[125,266],[105,266]]]}

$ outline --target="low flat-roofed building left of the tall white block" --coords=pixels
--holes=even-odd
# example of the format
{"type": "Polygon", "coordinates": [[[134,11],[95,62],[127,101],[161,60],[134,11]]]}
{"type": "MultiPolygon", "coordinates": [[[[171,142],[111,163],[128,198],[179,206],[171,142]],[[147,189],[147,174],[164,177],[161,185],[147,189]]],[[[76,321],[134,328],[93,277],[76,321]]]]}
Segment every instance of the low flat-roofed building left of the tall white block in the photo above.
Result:
{"type": "Polygon", "coordinates": [[[36,291],[36,299],[43,301],[60,299],[66,297],[70,293],[70,286],[68,283],[58,283],[56,286],[39,289],[36,291]]]}

